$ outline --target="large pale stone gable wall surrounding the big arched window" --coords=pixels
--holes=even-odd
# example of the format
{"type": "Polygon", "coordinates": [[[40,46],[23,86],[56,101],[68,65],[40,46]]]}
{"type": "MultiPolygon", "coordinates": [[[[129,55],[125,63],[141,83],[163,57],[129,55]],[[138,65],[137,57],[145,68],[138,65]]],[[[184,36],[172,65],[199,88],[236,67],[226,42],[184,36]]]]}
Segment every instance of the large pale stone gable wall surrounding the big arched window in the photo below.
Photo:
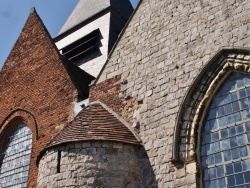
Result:
{"type": "Polygon", "coordinates": [[[198,185],[195,161],[171,162],[177,114],[218,50],[249,45],[249,10],[247,0],[142,0],[110,55],[97,83],[116,75],[126,83],[118,96],[134,99],[129,119],[138,121],[159,187],[198,185]]]}

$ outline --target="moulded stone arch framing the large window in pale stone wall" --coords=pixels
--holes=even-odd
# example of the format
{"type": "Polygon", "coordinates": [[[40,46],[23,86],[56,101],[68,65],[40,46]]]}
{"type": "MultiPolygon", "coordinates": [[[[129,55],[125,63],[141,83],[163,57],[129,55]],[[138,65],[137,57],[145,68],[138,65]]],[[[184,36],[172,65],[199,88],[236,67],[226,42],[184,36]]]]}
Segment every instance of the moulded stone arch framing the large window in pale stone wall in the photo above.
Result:
{"type": "Polygon", "coordinates": [[[199,154],[200,127],[209,104],[232,72],[250,73],[249,48],[223,48],[201,70],[188,90],[175,125],[173,160],[193,161],[199,154]]]}

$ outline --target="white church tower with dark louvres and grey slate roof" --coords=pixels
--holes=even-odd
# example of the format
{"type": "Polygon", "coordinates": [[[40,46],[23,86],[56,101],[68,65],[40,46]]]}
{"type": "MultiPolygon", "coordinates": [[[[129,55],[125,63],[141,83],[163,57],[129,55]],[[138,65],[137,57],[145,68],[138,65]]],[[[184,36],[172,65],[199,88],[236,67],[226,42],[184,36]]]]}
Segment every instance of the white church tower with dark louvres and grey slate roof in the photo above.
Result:
{"type": "Polygon", "coordinates": [[[129,0],[80,0],[54,39],[70,62],[97,77],[133,12],[129,0]]]}

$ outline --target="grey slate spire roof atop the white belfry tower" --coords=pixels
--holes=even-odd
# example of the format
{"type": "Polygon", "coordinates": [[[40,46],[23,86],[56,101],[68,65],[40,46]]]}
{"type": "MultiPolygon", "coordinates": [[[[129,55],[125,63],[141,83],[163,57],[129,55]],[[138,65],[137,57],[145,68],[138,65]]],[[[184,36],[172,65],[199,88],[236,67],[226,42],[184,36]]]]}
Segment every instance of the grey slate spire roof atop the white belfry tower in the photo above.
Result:
{"type": "Polygon", "coordinates": [[[133,7],[129,0],[79,0],[58,35],[72,29],[74,26],[109,7],[118,11],[125,19],[128,19],[133,12],[133,7]]]}

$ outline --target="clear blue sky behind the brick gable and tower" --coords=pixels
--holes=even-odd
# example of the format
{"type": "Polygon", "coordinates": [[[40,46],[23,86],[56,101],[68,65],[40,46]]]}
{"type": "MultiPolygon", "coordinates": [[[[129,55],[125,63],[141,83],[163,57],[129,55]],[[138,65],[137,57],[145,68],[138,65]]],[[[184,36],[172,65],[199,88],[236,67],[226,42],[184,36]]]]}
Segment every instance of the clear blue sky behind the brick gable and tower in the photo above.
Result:
{"type": "MultiPolygon", "coordinates": [[[[131,0],[136,6],[139,0],[131,0]]],[[[16,42],[32,7],[55,37],[78,0],[0,0],[0,68],[16,42]]]]}

